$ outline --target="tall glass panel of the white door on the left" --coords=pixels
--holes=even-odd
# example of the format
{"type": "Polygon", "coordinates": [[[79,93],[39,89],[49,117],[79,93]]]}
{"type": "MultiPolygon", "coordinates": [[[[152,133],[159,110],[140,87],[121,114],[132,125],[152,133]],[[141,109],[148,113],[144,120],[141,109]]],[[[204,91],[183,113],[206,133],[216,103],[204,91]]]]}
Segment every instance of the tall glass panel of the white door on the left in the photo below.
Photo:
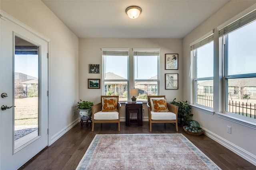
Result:
{"type": "Polygon", "coordinates": [[[14,149],[38,137],[39,47],[15,36],[14,149]]]}

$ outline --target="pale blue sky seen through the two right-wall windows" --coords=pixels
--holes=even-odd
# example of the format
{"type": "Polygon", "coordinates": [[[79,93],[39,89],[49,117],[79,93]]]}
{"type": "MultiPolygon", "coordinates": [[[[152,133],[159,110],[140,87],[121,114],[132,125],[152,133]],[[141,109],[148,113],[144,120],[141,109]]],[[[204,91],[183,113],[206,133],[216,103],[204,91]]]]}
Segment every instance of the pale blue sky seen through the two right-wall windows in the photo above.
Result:
{"type": "MultiPolygon", "coordinates": [[[[256,21],[228,34],[228,74],[256,73],[256,21]]],[[[213,76],[213,42],[198,49],[198,78],[213,76]]]]}

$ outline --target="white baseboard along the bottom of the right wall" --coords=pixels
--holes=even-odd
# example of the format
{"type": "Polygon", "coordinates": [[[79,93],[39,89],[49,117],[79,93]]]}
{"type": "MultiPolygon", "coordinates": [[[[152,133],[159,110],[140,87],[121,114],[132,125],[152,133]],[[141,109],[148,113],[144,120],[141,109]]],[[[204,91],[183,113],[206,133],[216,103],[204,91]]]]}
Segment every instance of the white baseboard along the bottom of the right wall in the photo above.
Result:
{"type": "Polygon", "coordinates": [[[207,129],[205,129],[204,127],[202,127],[202,129],[204,129],[204,134],[208,137],[210,137],[211,139],[213,139],[214,141],[218,142],[220,145],[226,147],[227,149],[231,150],[232,152],[238,154],[239,156],[241,156],[242,158],[244,158],[245,160],[247,160],[248,162],[254,164],[256,166],[256,155],[234,145],[233,143],[227,141],[226,139],[216,135],[215,133],[212,133],[211,131],[208,131],[207,129]]]}

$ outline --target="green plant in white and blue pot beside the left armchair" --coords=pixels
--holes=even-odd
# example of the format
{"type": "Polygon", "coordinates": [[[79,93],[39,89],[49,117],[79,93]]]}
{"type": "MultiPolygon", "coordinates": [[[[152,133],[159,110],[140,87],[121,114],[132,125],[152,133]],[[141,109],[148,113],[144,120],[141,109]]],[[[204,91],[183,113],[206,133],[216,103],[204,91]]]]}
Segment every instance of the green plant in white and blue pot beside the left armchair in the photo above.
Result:
{"type": "Polygon", "coordinates": [[[93,103],[90,101],[82,101],[77,102],[77,109],[79,109],[80,118],[82,120],[89,120],[92,116],[92,107],[93,103]]]}

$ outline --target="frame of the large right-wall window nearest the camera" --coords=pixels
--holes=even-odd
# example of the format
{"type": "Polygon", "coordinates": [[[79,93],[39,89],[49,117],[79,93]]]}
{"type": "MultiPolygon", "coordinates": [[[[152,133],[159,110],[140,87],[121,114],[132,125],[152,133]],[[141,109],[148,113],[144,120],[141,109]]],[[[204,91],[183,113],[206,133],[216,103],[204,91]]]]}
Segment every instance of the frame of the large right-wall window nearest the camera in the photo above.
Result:
{"type": "Polygon", "coordinates": [[[245,117],[243,115],[226,111],[228,110],[228,83],[227,83],[228,79],[256,77],[256,73],[228,75],[227,35],[252,22],[256,22],[256,10],[255,8],[254,9],[248,8],[247,10],[241,12],[234,18],[231,18],[229,21],[226,21],[225,23],[217,27],[218,39],[219,39],[218,43],[220,44],[219,45],[219,60],[221,61],[220,76],[222,76],[222,79],[221,79],[222,80],[222,83],[221,83],[222,96],[219,97],[219,100],[223,102],[219,103],[219,108],[222,108],[220,110],[221,112],[216,112],[216,113],[220,118],[227,119],[229,121],[256,129],[256,119],[252,119],[250,117],[245,117]]]}

